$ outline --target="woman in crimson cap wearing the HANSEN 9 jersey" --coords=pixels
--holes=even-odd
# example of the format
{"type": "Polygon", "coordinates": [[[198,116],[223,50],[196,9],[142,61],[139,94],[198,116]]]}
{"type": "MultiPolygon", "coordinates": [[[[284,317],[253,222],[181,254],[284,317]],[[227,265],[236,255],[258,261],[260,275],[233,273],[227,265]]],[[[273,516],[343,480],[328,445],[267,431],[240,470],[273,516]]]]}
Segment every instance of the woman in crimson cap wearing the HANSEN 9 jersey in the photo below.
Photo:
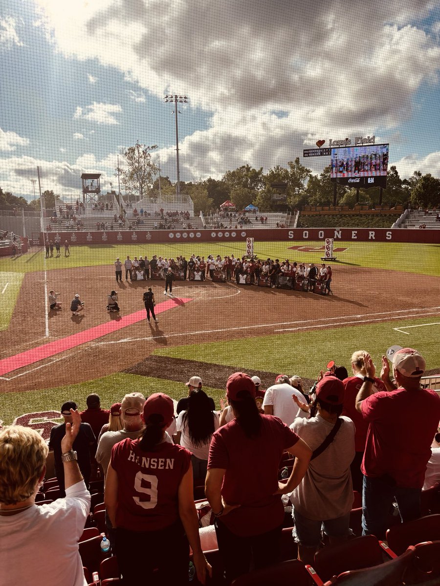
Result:
{"type": "Polygon", "coordinates": [[[155,568],[161,584],[188,582],[188,541],[198,580],[205,584],[211,573],[200,546],[191,454],[164,441],[164,428],[173,415],[170,397],[151,395],[144,404],[142,437],[126,438],[111,452],[105,503],[117,533],[116,555],[126,586],[139,581],[135,560],[142,560],[145,583],[153,580],[155,568]]]}

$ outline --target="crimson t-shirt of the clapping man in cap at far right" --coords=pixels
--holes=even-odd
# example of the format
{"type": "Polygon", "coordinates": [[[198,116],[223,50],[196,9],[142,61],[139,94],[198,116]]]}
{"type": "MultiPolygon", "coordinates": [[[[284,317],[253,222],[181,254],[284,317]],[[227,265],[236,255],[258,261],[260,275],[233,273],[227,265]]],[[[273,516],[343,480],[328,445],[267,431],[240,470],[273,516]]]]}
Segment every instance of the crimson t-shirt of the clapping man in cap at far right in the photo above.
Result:
{"type": "Polygon", "coordinates": [[[361,470],[390,475],[397,486],[422,488],[440,420],[440,397],[431,389],[381,391],[361,403],[368,422],[361,470]]]}

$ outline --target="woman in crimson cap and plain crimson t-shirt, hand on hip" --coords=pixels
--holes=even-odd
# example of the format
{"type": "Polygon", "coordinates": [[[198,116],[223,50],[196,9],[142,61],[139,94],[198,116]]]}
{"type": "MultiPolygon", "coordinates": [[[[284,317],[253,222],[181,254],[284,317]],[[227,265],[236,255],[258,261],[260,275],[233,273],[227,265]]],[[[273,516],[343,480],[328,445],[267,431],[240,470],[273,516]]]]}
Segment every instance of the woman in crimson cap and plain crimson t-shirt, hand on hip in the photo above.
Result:
{"type": "Polygon", "coordinates": [[[235,418],[212,436],[205,492],[230,584],[252,562],[262,568],[279,559],[281,495],[302,480],[312,452],[282,421],[258,413],[255,384],[248,374],[232,374],[226,395],[235,418]],[[278,466],[286,450],[296,460],[287,482],[280,483],[278,466]]]}

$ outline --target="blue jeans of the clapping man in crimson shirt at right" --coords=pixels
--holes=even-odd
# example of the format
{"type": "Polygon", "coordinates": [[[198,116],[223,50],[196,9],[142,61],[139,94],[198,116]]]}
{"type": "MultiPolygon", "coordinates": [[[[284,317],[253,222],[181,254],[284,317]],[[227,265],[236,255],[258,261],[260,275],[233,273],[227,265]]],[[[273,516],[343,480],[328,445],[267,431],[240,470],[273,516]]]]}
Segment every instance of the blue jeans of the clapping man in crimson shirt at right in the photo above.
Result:
{"type": "Polygon", "coordinates": [[[373,534],[377,539],[385,538],[388,513],[394,499],[399,507],[402,523],[418,519],[421,492],[421,488],[392,486],[384,478],[364,476],[362,534],[373,534]]]}

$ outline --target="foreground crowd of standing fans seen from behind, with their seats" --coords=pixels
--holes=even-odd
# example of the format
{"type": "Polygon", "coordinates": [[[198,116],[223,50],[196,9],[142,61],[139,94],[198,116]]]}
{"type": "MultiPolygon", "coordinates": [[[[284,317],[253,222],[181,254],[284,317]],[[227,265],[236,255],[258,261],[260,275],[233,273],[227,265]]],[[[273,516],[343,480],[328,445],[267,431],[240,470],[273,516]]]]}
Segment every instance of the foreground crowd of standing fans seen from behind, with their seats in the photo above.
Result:
{"type": "Polygon", "coordinates": [[[121,574],[126,586],[185,584],[195,568],[202,584],[323,584],[369,565],[353,584],[400,584],[386,581],[397,571],[405,584],[438,580],[426,563],[439,547],[414,547],[440,540],[439,516],[420,518],[440,510],[440,398],[421,386],[426,366],[392,346],[376,376],[358,351],[353,376],[330,361],[309,391],[299,376],[262,390],[238,372],[220,413],[198,376],[177,407],[163,393],[110,410],[91,394],[81,413],[65,401],[53,479],[37,431],[0,430],[0,581],[84,586],[99,571],[104,585],[121,574]],[[411,565],[417,552],[425,566],[411,565]]]}

